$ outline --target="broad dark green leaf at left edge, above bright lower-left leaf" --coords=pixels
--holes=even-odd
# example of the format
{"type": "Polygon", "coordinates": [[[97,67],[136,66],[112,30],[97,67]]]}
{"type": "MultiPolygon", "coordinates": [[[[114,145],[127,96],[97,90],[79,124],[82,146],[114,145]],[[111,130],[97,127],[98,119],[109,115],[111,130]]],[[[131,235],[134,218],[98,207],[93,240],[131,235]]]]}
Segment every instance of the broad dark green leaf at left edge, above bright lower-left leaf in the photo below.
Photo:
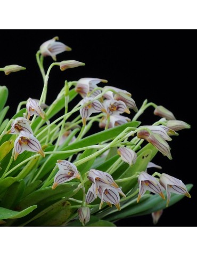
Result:
{"type": "Polygon", "coordinates": [[[22,198],[25,187],[26,187],[26,184],[24,180],[14,182],[9,187],[9,189],[7,189],[2,199],[1,207],[7,208],[7,209],[14,209],[15,205],[17,205],[20,202],[20,199],[22,198]]]}

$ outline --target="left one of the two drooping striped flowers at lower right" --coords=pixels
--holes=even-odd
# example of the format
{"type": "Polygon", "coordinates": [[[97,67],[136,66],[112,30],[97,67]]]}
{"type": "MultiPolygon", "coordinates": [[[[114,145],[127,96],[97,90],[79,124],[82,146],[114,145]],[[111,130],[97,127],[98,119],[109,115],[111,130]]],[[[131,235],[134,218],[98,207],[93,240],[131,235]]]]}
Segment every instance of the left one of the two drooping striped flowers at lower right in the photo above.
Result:
{"type": "Polygon", "coordinates": [[[159,194],[163,199],[165,199],[159,181],[156,178],[152,177],[150,174],[147,174],[146,172],[141,172],[138,177],[138,183],[139,194],[137,197],[137,203],[139,202],[139,199],[144,195],[146,190],[149,190],[154,194],[159,194]]]}

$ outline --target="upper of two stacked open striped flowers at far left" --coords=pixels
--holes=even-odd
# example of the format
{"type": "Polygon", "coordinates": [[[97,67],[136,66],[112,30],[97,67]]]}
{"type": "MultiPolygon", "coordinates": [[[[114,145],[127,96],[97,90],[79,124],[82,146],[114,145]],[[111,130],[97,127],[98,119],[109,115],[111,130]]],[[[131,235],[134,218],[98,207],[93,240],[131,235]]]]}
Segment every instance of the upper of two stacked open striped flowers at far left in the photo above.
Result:
{"type": "Polygon", "coordinates": [[[11,129],[7,131],[7,134],[19,134],[21,131],[33,134],[31,126],[29,125],[31,121],[24,117],[17,117],[11,124],[11,129]]]}

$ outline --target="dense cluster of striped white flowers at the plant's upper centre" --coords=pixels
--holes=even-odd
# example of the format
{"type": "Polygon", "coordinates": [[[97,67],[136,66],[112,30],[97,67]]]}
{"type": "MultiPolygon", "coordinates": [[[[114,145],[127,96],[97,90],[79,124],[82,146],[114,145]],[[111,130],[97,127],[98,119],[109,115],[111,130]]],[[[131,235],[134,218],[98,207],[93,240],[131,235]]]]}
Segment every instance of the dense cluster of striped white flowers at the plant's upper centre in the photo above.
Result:
{"type": "Polygon", "coordinates": [[[121,116],[122,113],[130,113],[129,108],[137,111],[135,101],[131,98],[131,94],[125,90],[112,86],[104,86],[105,93],[101,95],[101,89],[98,83],[106,83],[108,81],[99,78],[81,78],[77,82],[76,92],[78,92],[83,100],[80,105],[80,115],[83,119],[83,125],[93,113],[104,113],[99,126],[111,128],[116,125],[124,124],[130,121],[128,117],[121,116]],[[96,98],[96,99],[95,99],[96,98]]]}

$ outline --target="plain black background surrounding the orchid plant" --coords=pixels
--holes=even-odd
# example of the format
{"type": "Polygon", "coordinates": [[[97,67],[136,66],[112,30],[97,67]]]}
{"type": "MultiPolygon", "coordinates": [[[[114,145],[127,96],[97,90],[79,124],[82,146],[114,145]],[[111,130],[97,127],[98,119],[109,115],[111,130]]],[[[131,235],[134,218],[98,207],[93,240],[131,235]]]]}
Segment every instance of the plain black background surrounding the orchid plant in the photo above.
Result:
{"type": "MultiPolygon", "coordinates": [[[[0,67],[17,64],[27,68],[9,76],[0,73],[0,84],[9,88],[11,109],[8,116],[14,114],[20,101],[39,98],[43,82],[35,54],[40,44],[59,36],[60,42],[72,47],[72,51],[59,54],[58,61],[78,60],[86,66],[64,72],[54,67],[46,103],[55,99],[65,79],[76,81],[82,77],[97,77],[131,92],[138,108],[144,99],[165,106],[177,119],[191,124],[192,129],[180,131],[179,136],[169,143],[172,161],[159,153],[154,163],[161,165],[163,172],[196,185],[195,41],[192,35],[175,34],[157,30],[154,33],[143,30],[1,30],[0,67]]],[[[47,68],[52,63],[51,57],[45,58],[44,63],[47,68]]],[[[143,124],[152,124],[158,120],[152,113],[153,108],[150,108],[139,120],[143,124]]],[[[158,225],[196,226],[195,191],[194,186],[191,199],[184,198],[165,210],[158,225]]],[[[152,219],[150,215],[129,218],[120,220],[117,225],[152,226],[152,219]]]]}

